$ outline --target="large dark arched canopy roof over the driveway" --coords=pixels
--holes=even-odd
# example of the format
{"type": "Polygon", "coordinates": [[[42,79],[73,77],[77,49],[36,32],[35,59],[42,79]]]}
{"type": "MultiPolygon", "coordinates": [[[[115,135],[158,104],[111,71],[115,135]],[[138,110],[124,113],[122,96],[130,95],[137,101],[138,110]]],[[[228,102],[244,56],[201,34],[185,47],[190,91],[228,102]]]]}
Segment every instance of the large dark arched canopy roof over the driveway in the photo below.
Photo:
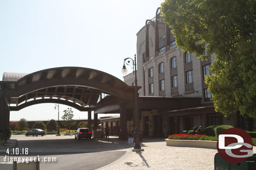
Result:
{"type": "Polygon", "coordinates": [[[80,111],[106,101],[134,99],[134,87],[102,71],[82,67],[58,67],[31,74],[4,73],[0,95],[10,111],[39,103],[60,103],[80,111]],[[1,94],[2,92],[2,94],[1,94]]]}

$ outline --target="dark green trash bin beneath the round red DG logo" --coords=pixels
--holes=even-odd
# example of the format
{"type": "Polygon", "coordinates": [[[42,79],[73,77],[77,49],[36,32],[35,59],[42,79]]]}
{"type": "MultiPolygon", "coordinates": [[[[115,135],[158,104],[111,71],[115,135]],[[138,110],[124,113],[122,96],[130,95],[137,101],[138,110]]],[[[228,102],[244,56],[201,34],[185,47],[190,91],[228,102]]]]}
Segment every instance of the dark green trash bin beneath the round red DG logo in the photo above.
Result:
{"type": "Polygon", "coordinates": [[[220,157],[219,153],[214,156],[214,170],[256,170],[256,154],[248,157],[240,163],[229,163],[220,157]]]}

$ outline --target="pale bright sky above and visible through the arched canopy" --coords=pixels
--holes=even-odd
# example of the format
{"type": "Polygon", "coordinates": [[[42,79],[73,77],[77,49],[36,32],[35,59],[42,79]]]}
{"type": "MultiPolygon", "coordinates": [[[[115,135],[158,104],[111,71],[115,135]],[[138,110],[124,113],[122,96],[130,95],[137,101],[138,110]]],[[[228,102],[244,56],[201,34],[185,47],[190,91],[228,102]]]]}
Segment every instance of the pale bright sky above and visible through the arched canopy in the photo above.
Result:
{"type": "MultiPolygon", "coordinates": [[[[163,1],[0,0],[0,80],[3,72],[78,66],[123,81],[123,59],[134,57],[136,33],[163,1]]],[[[36,104],[13,111],[10,121],[57,119],[54,107],[36,104]]],[[[67,108],[60,104],[60,119],[67,108]]],[[[72,110],[73,119],[87,119],[87,112],[72,110]]]]}

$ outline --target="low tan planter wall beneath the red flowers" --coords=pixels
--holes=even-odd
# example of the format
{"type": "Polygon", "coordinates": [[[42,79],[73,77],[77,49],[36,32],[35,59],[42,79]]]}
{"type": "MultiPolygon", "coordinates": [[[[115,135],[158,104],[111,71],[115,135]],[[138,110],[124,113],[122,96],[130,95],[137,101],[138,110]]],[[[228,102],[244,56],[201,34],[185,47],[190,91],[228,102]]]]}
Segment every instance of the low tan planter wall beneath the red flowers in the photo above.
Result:
{"type": "Polygon", "coordinates": [[[200,147],[217,150],[217,141],[208,140],[168,140],[165,139],[167,146],[175,147],[200,147]]]}

